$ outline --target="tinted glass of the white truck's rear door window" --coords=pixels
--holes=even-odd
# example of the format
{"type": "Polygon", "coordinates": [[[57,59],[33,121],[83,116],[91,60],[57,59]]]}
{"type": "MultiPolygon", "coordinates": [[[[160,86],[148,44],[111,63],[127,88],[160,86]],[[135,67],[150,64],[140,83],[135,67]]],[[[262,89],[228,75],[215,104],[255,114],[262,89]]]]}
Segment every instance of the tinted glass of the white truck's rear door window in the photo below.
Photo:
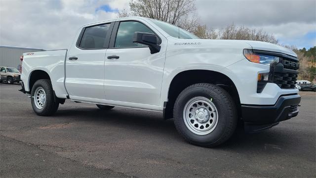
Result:
{"type": "Polygon", "coordinates": [[[110,24],[102,24],[85,28],[79,47],[83,49],[104,48],[109,28],[110,24]]]}

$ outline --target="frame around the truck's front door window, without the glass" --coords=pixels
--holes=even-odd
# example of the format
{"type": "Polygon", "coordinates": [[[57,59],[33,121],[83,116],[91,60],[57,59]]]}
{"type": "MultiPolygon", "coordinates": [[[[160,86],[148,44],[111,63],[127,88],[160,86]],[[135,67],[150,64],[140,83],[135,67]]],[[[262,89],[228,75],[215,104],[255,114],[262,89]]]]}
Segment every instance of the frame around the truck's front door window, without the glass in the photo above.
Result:
{"type": "Polygon", "coordinates": [[[118,34],[118,28],[119,28],[119,24],[121,22],[139,22],[143,25],[145,25],[147,28],[149,28],[157,37],[158,37],[158,44],[157,45],[160,45],[161,44],[161,38],[157,35],[157,33],[152,29],[150,28],[148,25],[144,24],[143,22],[139,21],[139,20],[120,20],[120,21],[116,21],[115,24],[114,24],[114,27],[113,27],[113,30],[112,30],[112,34],[111,34],[111,38],[110,38],[110,44],[109,44],[109,49],[121,49],[121,48],[145,48],[145,47],[148,47],[148,46],[130,46],[130,47],[115,47],[115,41],[117,39],[117,34],[118,34]]]}

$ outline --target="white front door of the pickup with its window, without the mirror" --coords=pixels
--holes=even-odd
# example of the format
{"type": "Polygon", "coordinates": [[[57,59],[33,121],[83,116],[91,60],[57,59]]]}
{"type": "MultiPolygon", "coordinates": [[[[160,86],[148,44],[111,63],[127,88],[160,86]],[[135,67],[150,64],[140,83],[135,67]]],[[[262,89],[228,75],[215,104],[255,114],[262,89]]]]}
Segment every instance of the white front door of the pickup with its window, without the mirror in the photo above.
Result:
{"type": "Polygon", "coordinates": [[[117,21],[105,59],[106,99],[132,107],[159,105],[166,44],[146,21],[117,21]],[[133,43],[135,32],[156,34],[160,51],[151,54],[147,45],[133,43]]]}

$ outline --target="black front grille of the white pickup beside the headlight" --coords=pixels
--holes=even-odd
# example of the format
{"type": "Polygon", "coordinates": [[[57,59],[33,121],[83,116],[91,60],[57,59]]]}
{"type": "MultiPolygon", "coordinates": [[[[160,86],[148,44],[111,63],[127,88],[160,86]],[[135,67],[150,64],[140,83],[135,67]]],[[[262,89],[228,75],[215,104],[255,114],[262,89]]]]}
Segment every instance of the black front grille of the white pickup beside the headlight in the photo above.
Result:
{"type": "Polygon", "coordinates": [[[299,63],[290,58],[281,58],[276,64],[273,75],[273,83],[281,89],[295,89],[298,76],[299,63]]]}

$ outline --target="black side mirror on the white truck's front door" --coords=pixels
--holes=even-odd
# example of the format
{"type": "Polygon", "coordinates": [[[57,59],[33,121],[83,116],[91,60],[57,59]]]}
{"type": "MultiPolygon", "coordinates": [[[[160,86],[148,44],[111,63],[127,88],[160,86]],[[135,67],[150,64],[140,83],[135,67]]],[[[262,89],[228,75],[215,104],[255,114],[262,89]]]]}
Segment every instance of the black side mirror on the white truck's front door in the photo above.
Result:
{"type": "Polygon", "coordinates": [[[139,43],[143,45],[148,45],[150,53],[154,54],[160,51],[161,46],[158,45],[159,39],[155,34],[135,32],[133,43],[139,43]]]}

